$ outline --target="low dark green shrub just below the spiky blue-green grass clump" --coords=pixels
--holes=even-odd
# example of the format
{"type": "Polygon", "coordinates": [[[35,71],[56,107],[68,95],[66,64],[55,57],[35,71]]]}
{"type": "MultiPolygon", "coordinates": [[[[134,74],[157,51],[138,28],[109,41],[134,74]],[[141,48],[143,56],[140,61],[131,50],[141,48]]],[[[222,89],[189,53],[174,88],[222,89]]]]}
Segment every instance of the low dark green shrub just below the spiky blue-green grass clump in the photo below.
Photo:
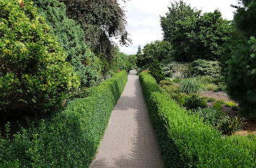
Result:
{"type": "Polygon", "coordinates": [[[188,109],[196,110],[198,107],[206,107],[207,101],[200,98],[196,94],[192,94],[190,97],[186,98],[185,104],[188,109]]]}

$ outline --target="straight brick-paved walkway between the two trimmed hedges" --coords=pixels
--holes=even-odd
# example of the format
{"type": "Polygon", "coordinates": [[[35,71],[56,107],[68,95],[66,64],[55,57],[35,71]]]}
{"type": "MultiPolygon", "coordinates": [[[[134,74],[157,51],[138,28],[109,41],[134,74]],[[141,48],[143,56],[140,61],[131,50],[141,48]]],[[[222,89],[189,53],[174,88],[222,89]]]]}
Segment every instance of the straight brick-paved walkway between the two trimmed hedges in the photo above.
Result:
{"type": "Polygon", "coordinates": [[[164,167],[135,71],[129,73],[127,86],[111,114],[98,154],[90,167],[164,167]]]}

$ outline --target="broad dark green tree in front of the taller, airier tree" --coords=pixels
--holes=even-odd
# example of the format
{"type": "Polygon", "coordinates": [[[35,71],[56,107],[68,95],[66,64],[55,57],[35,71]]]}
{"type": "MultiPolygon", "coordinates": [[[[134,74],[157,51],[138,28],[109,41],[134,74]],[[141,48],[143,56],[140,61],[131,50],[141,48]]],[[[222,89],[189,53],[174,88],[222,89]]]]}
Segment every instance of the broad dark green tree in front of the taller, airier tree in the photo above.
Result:
{"type": "Polygon", "coordinates": [[[176,25],[175,43],[172,43],[176,61],[216,61],[223,55],[223,45],[231,37],[231,25],[222,19],[218,10],[201,17],[186,17],[183,21],[177,21],[176,25]]]}

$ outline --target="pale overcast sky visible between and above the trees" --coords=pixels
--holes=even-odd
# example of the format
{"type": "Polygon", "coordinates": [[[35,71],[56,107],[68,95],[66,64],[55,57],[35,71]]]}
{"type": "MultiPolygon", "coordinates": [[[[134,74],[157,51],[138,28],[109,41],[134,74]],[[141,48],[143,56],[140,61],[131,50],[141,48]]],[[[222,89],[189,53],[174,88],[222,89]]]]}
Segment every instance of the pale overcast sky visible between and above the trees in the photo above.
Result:
{"type": "MultiPolygon", "coordinates": [[[[233,19],[235,9],[231,4],[236,4],[236,0],[184,1],[202,12],[213,12],[218,9],[223,18],[233,19]]],[[[119,47],[121,52],[135,54],[139,45],[143,48],[152,41],[163,39],[160,16],[166,15],[171,2],[174,0],[128,0],[126,3],[119,0],[119,4],[127,11],[127,31],[129,38],[132,39],[132,44],[128,47],[119,47]]]]}

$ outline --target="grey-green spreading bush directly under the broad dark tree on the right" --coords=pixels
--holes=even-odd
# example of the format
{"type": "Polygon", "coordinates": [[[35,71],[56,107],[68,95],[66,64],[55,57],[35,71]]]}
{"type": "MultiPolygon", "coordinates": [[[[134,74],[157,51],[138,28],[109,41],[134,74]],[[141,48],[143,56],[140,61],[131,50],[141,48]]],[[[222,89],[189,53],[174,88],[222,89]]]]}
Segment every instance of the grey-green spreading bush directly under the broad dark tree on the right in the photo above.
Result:
{"type": "Polygon", "coordinates": [[[193,76],[211,76],[212,78],[221,77],[221,66],[218,61],[206,61],[198,59],[192,62],[193,76]]]}

